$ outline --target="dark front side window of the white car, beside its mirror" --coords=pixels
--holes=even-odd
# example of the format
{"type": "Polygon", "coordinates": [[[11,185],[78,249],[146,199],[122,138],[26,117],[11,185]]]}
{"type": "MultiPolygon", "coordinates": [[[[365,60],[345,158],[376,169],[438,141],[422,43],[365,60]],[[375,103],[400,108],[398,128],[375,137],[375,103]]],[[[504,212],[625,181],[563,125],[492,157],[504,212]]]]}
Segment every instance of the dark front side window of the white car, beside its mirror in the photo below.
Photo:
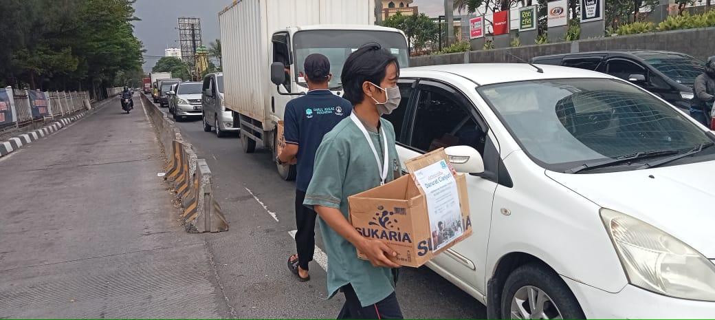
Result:
{"type": "Polygon", "coordinates": [[[420,85],[410,145],[424,152],[468,145],[483,154],[485,134],[469,111],[473,106],[463,101],[458,92],[420,85]]]}

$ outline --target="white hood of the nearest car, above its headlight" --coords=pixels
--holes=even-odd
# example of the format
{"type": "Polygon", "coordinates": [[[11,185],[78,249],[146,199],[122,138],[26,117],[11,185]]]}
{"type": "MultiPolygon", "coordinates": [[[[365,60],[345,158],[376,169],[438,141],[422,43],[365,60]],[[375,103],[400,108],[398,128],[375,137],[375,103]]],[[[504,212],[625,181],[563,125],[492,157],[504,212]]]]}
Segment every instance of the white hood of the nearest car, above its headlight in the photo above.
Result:
{"type": "Polygon", "coordinates": [[[619,173],[546,175],[603,208],[631,215],[715,258],[715,161],[619,173]]]}

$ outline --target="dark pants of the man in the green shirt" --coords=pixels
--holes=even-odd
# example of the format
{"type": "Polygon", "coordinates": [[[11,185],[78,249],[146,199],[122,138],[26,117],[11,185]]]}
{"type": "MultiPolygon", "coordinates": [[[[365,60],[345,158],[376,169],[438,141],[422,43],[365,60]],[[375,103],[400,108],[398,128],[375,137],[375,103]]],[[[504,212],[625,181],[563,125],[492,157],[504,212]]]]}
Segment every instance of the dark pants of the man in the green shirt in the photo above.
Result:
{"type": "Polygon", "coordinates": [[[343,286],[342,292],[345,294],[345,304],[342,305],[337,319],[404,319],[395,292],[370,306],[360,304],[358,295],[350,284],[343,286]]]}

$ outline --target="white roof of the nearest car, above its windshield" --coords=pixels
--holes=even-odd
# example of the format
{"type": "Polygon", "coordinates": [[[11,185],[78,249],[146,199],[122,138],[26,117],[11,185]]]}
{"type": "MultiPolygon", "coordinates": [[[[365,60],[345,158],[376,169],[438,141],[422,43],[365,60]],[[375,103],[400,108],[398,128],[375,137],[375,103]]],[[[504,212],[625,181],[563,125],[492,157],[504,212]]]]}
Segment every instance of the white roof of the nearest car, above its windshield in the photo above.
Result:
{"type": "Polygon", "coordinates": [[[613,79],[608,74],[586,69],[536,64],[543,73],[524,63],[442,64],[425,67],[410,67],[400,70],[400,77],[435,77],[436,74],[455,74],[478,85],[516,82],[538,79],[603,78],[613,79]]]}

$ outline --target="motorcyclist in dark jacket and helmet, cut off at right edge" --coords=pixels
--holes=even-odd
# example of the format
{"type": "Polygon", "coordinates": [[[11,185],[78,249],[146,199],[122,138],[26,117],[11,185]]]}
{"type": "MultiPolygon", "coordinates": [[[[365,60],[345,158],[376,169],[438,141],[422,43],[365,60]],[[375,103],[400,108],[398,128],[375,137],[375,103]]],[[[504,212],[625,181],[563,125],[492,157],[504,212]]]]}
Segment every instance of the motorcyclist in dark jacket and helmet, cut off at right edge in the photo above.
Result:
{"type": "Polygon", "coordinates": [[[695,97],[692,100],[690,115],[698,122],[710,127],[710,115],[715,102],[715,56],[708,58],[705,72],[695,78],[693,86],[695,97]]]}

